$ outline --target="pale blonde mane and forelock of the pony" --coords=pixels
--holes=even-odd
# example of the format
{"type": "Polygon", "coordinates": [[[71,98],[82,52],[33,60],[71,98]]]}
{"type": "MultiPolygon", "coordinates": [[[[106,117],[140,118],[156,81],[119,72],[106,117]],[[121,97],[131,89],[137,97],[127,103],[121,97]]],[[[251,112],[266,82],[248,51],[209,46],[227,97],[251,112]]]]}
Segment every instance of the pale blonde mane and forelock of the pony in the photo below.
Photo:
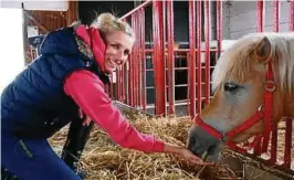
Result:
{"type": "Polygon", "coordinates": [[[274,76],[282,91],[294,91],[294,33],[255,33],[243,36],[223,52],[212,74],[212,88],[216,91],[227,77],[234,77],[240,83],[250,78],[254,70],[250,64],[250,52],[262,38],[271,42],[274,76]]]}

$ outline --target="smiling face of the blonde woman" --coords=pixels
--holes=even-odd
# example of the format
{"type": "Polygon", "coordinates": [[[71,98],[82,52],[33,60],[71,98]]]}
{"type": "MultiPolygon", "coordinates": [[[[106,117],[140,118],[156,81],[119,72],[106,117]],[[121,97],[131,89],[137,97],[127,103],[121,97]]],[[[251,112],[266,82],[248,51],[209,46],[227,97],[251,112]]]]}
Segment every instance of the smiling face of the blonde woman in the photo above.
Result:
{"type": "Polygon", "coordinates": [[[134,40],[128,34],[116,31],[106,36],[105,70],[108,73],[114,72],[119,65],[123,65],[130,54],[134,40]]]}

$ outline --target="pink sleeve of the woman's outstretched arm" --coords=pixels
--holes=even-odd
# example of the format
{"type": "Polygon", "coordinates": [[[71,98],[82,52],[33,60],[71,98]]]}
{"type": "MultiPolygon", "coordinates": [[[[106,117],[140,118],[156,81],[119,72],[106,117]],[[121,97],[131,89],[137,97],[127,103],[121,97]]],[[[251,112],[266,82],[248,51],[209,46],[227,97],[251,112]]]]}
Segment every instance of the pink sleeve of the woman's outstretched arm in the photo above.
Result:
{"type": "Polygon", "coordinates": [[[145,152],[162,151],[164,142],[138,133],[112,104],[103,82],[92,72],[78,70],[65,81],[64,92],[83,112],[124,148],[145,152]]]}

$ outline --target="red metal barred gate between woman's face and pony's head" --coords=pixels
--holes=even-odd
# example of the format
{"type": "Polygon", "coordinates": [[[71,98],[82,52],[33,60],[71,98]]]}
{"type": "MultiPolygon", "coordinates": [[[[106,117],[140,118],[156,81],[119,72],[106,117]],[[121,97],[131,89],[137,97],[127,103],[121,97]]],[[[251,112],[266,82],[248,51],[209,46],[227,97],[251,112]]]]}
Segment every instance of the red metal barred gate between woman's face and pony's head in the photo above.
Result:
{"type": "MultiPolygon", "coordinates": [[[[134,51],[129,62],[116,73],[116,91],[112,92],[113,97],[146,110],[146,72],[154,72],[155,88],[155,113],[156,115],[175,114],[175,105],[187,104],[187,115],[195,116],[201,110],[201,103],[210,99],[210,52],[220,53],[221,50],[221,1],[218,4],[218,47],[209,49],[209,28],[206,29],[206,49],[201,49],[201,1],[190,1],[189,3],[189,49],[178,49],[174,41],[174,2],[172,1],[146,1],[129,13],[122,17],[130,20],[132,27],[136,32],[134,51]],[[145,45],[145,8],[153,8],[153,47],[146,49],[145,45]],[[197,12],[197,14],[196,14],[197,12]],[[167,23],[164,23],[167,21],[167,23]],[[197,31],[197,32],[196,32],[197,31]],[[167,33],[165,33],[167,32],[167,33]],[[167,40],[166,40],[167,36],[167,40]],[[175,53],[186,56],[189,65],[186,67],[175,67],[175,53]],[[206,53],[206,63],[201,63],[201,53],[206,53]],[[153,55],[154,68],[146,68],[146,54],[153,55]],[[166,61],[162,61],[166,60],[166,61]],[[197,60],[197,61],[192,61],[197,60]],[[202,66],[204,64],[204,66],[202,66]],[[186,84],[175,85],[175,72],[188,70],[189,81],[186,84]],[[202,70],[198,71],[198,70],[202,70]],[[165,74],[165,72],[167,72],[165,74]],[[203,74],[201,80],[201,74],[203,74]],[[166,81],[168,83],[166,84],[166,81]],[[186,100],[175,100],[175,87],[188,87],[186,100]],[[126,91],[127,89],[127,91],[126,91]],[[167,91],[166,91],[167,89],[167,91]],[[201,93],[201,89],[202,93],[201,93]],[[197,93],[198,92],[198,93],[197,93]],[[204,95],[204,96],[202,96],[204,95]],[[198,100],[199,99],[199,100],[198,100]]],[[[204,3],[206,18],[210,15],[210,1],[204,3]]],[[[206,24],[209,27],[209,21],[206,24]]],[[[151,87],[149,87],[151,88],[151,87]]]]}

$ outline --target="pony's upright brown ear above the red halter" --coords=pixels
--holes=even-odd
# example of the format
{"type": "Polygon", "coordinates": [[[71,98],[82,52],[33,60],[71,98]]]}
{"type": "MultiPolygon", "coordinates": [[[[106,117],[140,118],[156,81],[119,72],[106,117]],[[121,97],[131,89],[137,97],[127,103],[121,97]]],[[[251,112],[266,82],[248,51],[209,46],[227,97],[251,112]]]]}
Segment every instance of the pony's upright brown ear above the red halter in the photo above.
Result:
{"type": "Polygon", "coordinates": [[[254,50],[255,60],[260,63],[266,63],[272,57],[272,45],[270,40],[264,36],[260,42],[258,42],[254,50]]]}

